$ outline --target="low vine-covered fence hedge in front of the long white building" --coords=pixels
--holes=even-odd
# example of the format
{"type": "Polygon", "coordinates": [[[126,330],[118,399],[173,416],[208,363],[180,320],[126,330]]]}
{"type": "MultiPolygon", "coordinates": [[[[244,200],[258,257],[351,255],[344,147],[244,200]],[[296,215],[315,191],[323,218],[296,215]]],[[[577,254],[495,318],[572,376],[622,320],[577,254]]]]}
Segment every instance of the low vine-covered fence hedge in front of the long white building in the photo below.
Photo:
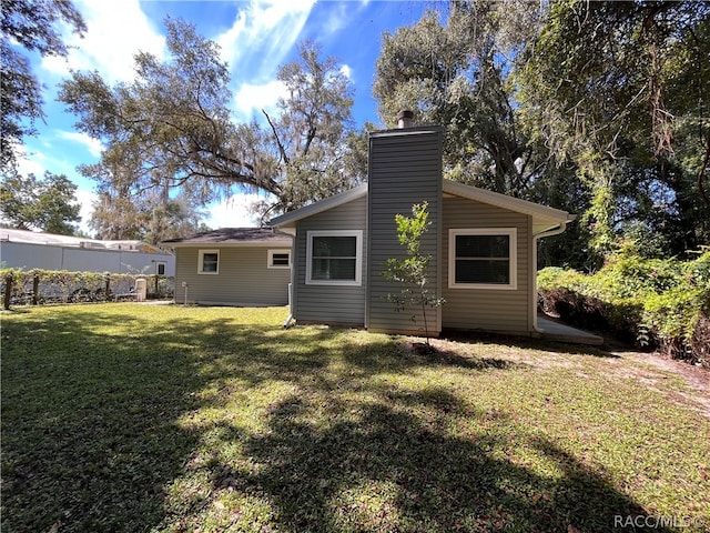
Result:
{"type": "Polygon", "coordinates": [[[172,296],[174,279],[164,275],[0,269],[2,301],[12,305],[112,301],[130,293],[139,278],[148,280],[149,298],[172,296]]]}

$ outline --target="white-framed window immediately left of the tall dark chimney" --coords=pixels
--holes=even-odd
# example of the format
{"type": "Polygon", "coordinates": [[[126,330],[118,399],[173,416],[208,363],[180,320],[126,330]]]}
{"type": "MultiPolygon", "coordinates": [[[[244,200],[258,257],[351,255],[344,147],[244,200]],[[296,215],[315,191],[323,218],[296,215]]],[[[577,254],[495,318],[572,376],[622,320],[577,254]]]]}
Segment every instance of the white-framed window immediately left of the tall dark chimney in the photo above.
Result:
{"type": "Polygon", "coordinates": [[[308,231],[306,239],[306,284],[362,284],[362,231],[308,231]]]}

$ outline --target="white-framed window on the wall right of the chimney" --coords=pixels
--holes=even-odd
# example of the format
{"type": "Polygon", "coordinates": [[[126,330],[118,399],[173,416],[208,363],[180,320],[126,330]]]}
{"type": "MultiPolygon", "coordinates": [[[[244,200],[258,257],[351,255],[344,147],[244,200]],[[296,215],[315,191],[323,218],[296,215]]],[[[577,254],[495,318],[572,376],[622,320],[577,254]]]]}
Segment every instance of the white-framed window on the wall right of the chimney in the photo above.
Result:
{"type": "Polygon", "coordinates": [[[448,286],[516,289],[516,228],[449,230],[448,286]]]}

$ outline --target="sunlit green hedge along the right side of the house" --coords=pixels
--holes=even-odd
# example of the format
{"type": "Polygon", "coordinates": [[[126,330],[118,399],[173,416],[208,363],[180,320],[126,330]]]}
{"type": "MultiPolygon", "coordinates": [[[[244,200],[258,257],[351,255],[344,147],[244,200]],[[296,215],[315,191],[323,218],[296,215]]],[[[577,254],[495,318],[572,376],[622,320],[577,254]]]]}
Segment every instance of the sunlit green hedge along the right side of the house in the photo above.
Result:
{"type": "Polygon", "coordinates": [[[620,251],[595,274],[547,268],[538,293],[571,324],[710,368],[710,248],[693,261],[620,251]]]}

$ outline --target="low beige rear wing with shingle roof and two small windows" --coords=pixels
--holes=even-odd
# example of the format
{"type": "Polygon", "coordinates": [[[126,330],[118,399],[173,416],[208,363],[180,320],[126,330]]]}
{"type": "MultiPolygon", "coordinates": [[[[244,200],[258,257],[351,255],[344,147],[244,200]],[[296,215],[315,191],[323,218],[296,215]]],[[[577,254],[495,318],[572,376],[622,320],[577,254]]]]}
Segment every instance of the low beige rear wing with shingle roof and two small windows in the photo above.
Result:
{"type": "Polygon", "coordinates": [[[288,303],[288,234],[266,228],[223,228],[162,244],[175,250],[175,303],[288,303]]]}

